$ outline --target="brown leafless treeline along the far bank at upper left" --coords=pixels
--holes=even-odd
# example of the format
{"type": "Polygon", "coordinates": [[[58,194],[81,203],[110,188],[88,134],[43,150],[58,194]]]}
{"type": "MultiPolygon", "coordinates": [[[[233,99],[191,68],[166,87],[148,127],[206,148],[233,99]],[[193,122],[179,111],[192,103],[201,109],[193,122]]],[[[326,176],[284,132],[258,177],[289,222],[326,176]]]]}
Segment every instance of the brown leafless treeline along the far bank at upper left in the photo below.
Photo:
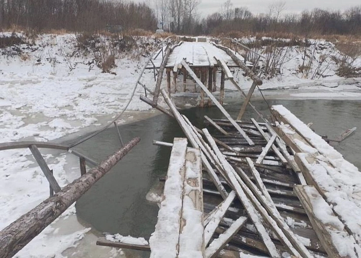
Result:
{"type": "Polygon", "coordinates": [[[146,4],[111,0],[0,0],[0,28],[20,26],[49,31],[103,30],[106,25],[124,30],[154,30],[157,19],[146,4]]]}

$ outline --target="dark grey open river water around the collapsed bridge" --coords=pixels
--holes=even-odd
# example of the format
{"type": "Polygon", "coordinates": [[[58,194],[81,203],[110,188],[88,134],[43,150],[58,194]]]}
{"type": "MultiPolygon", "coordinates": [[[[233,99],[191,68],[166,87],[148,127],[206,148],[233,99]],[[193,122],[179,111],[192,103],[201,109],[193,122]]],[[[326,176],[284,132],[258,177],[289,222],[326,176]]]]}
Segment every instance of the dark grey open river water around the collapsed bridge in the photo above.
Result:
{"type": "MultiPolygon", "coordinates": [[[[266,117],[268,105],[253,101],[266,117]]],[[[361,101],[345,100],[270,100],[283,104],[303,122],[313,122],[312,128],[321,135],[337,138],[344,130],[357,126],[356,132],[336,145],[345,158],[361,169],[361,101]]],[[[225,108],[237,117],[240,104],[225,108]]],[[[182,112],[191,122],[203,126],[203,117],[223,118],[216,107],[192,108],[182,112]]],[[[257,118],[248,108],[245,118],[257,118]]],[[[145,196],[160,176],[166,175],[170,149],[152,145],[153,140],[172,142],[183,137],[178,124],[166,115],[159,115],[135,124],[119,127],[123,141],[135,136],[141,142],[116,167],[95,184],[76,205],[78,217],[100,232],[119,233],[149,238],[154,231],[158,207],[149,204],[145,196]]],[[[92,138],[78,150],[94,160],[102,160],[119,148],[114,128],[92,138]]]]}

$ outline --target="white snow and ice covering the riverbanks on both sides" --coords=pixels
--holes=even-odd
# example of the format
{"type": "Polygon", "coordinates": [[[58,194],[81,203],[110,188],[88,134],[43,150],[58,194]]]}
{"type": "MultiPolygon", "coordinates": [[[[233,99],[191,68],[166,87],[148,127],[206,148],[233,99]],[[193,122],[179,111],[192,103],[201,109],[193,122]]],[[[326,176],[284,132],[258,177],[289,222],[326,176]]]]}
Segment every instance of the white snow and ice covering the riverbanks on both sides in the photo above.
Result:
{"type": "MultiPolygon", "coordinates": [[[[64,136],[75,137],[100,128],[122,110],[146,60],[145,57],[134,59],[130,58],[132,54],[120,54],[112,69],[114,75],[89,65],[90,55],[69,55],[78,51],[74,34],[44,34],[35,42],[32,47],[21,45],[25,48],[21,55],[0,56],[0,142],[59,141],[64,136]]],[[[149,39],[149,42],[155,46],[154,40],[149,39]]],[[[294,73],[301,62],[300,52],[294,49],[289,55],[281,76],[265,81],[261,86],[261,89],[269,90],[265,91],[269,97],[361,98],[360,78],[340,78],[335,75],[335,67],[329,65],[324,67],[329,69],[327,77],[307,79],[294,73]],[[281,92],[280,89],[289,90],[281,92]]],[[[248,89],[251,83],[243,79],[241,72],[236,73],[242,87],[248,89]]],[[[154,88],[151,70],[145,72],[142,83],[154,88]]],[[[235,90],[230,84],[226,88],[235,90]]],[[[135,112],[154,113],[150,106],[139,100],[141,94],[144,90],[138,87],[128,107],[130,113],[124,114],[121,122],[133,121],[137,117],[135,112]]],[[[79,177],[76,157],[58,151],[41,152],[61,187],[79,177]]],[[[48,196],[48,182],[29,150],[0,152],[0,230],[48,196]]],[[[73,205],[17,256],[123,255],[111,248],[96,247],[95,237],[87,233],[89,230],[77,222],[73,205]],[[86,241],[79,242],[84,237],[86,241]],[[79,248],[68,249],[78,244],[79,248]]]]}

